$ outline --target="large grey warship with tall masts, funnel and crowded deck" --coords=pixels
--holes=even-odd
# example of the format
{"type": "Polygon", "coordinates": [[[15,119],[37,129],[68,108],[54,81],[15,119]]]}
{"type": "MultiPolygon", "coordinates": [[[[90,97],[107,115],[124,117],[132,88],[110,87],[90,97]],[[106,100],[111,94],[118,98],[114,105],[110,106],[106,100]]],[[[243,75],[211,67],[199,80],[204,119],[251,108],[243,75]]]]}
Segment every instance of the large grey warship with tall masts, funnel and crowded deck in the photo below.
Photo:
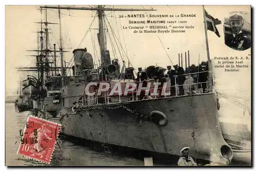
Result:
{"type": "MultiPolygon", "coordinates": [[[[149,93],[141,97],[137,95],[137,88],[127,95],[124,94],[125,86],[136,82],[135,69],[130,66],[126,68],[124,60],[121,69],[118,59],[111,60],[110,51],[106,48],[106,34],[113,33],[113,29],[104,12],[154,9],[106,8],[102,5],[90,8],[43,6],[40,9],[45,12],[47,9],[58,10],[59,50],[56,50],[55,45],[54,50],[47,47],[47,43],[42,45],[49,38],[48,25],[55,23],[49,23],[47,19],[45,22],[38,22],[41,25],[38,32],[41,34],[41,46],[35,50],[38,53],[34,55],[36,67],[19,68],[20,71],[38,73],[37,78],[28,76],[30,85],[33,82],[36,90],[32,94],[36,95],[33,106],[34,110],[38,111],[38,117],[61,124],[60,133],[63,135],[99,142],[103,146],[111,144],[175,156],[181,155],[181,148],[189,146],[190,155],[196,159],[230,164],[233,152],[220,129],[219,105],[212,80],[205,17],[209,74],[207,91],[192,93],[190,89],[190,93],[179,95],[179,85],[176,82],[175,96],[152,96],[149,93]],[[86,48],[74,49],[74,66],[66,67],[66,62],[63,61],[60,10],[91,10],[96,13],[99,26],[99,67],[94,66],[93,57],[86,48]],[[108,32],[104,24],[109,24],[108,32]],[[42,25],[45,28],[42,28],[42,25]],[[46,41],[43,40],[44,37],[46,41]],[[56,66],[56,52],[60,54],[60,67],[56,66]],[[57,74],[59,70],[61,74],[57,74]],[[72,70],[73,75],[68,76],[67,70],[72,70]],[[96,93],[88,95],[86,88],[92,82],[95,84],[89,91],[96,93]],[[109,83],[110,89],[100,87],[100,83],[109,83]],[[111,94],[110,91],[117,83],[121,84],[122,93],[111,94]]],[[[115,51],[120,53],[120,49],[115,51]]],[[[146,81],[152,87],[156,73],[164,71],[165,69],[160,67],[148,66],[142,71],[148,79],[142,82],[146,81]]],[[[140,81],[136,83],[138,82],[140,81]]]]}

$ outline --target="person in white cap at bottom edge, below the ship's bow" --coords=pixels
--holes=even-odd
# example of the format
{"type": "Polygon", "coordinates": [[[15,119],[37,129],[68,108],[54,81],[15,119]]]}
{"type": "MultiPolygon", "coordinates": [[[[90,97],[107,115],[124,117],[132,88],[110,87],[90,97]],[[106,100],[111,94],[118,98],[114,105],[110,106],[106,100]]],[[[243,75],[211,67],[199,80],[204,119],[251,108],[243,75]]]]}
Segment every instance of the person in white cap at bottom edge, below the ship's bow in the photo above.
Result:
{"type": "Polygon", "coordinates": [[[197,163],[189,156],[189,147],[184,147],[180,151],[181,157],[178,166],[197,166],[197,163]]]}

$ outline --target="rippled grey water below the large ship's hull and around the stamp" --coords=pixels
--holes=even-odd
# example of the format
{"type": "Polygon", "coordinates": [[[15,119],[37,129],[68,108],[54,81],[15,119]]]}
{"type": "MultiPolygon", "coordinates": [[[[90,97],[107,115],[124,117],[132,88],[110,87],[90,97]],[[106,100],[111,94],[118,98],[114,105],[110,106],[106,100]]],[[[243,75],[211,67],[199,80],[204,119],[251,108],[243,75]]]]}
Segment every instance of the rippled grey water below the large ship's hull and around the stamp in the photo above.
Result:
{"type": "MultiPolygon", "coordinates": [[[[48,165],[16,154],[20,143],[19,130],[24,130],[29,112],[15,112],[14,103],[6,103],[6,165],[43,166],[48,165]]],[[[51,166],[141,166],[144,161],[120,154],[105,153],[90,147],[77,145],[61,139],[61,149],[55,146],[51,166]]]]}

